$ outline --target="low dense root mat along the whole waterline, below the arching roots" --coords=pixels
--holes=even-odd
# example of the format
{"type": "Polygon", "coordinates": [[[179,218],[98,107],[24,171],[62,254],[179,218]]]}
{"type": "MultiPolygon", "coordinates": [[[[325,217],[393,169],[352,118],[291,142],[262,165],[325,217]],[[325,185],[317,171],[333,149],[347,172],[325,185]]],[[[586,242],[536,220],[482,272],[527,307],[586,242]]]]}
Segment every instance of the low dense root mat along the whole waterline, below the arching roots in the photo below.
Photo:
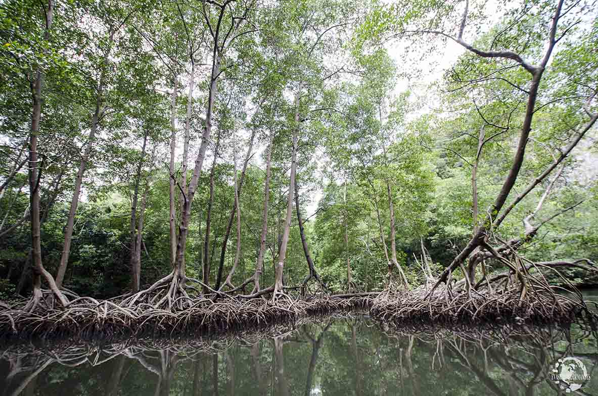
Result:
{"type": "MultiPolygon", "coordinates": [[[[392,326],[447,326],[483,323],[570,323],[596,314],[581,296],[535,291],[521,299],[517,290],[501,293],[430,288],[382,293],[338,294],[296,299],[289,296],[269,299],[225,296],[185,297],[187,308],[179,311],[156,308],[155,303],[124,300],[95,300],[80,297],[66,308],[44,308],[29,312],[20,306],[0,311],[0,338],[121,339],[160,334],[210,334],[263,329],[300,318],[337,311],[368,311],[376,320],[392,326]]],[[[133,297],[134,298],[134,297],[133,297]]]]}

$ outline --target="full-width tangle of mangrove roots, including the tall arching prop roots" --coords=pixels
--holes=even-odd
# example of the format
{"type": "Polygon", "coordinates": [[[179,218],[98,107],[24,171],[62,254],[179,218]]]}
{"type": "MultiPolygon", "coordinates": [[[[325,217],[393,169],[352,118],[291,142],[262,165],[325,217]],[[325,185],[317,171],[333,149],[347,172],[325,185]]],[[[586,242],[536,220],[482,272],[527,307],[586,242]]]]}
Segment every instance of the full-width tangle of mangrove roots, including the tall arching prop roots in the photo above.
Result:
{"type": "Polygon", "coordinates": [[[42,290],[36,303],[22,300],[0,306],[0,339],[219,333],[351,309],[368,309],[372,318],[396,326],[571,323],[580,317],[596,323],[596,313],[587,308],[582,294],[564,277],[561,280],[568,290],[548,284],[540,269],[560,275],[556,264],[533,263],[514,251],[510,257],[500,258],[508,263],[509,271],[483,271],[477,283],[427,282],[412,290],[390,283],[382,292],[332,296],[318,293],[298,297],[291,290],[300,286],[276,284],[235,296],[177,271],[138,293],[109,300],[78,297],[66,291],[72,300],[62,306],[53,302],[52,291],[42,290]],[[557,294],[556,290],[568,293],[557,294]],[[269,294],[271,298],[264,298],[269,294]]]}

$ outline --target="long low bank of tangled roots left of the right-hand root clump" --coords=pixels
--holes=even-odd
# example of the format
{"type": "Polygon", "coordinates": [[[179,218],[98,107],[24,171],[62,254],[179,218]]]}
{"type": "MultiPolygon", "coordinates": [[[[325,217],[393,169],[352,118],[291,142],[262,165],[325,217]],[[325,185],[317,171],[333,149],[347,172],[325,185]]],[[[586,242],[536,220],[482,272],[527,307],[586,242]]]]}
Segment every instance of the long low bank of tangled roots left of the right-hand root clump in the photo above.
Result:
{"type": "Polygon", "coordinates": [[[336,311],[367,309],[371,296],[318,297],[269,300],[228,297],[190,299],[181,311],[154,308],[148,303],[130,305],[81,297],[66,309],[27,312],[19,308],[0,311],[0,338],[120,339],[160,334],[223,333],[289,323],[300,318],[336,311]]]}

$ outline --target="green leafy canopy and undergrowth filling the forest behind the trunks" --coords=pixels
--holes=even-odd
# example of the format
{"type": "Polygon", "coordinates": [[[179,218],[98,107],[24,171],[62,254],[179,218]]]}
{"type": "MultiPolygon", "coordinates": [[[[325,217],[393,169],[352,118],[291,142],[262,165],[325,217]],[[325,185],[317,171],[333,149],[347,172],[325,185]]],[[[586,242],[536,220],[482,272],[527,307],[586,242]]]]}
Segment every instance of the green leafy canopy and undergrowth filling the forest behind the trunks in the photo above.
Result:
{"type": "MultiPolygon", "coordinates": [[[[185,177],[191,179],[189,168],[208,121],[213,131],[206,142],[208,152],[199,159],[203,171],[185,252],[190,277],[200,277],[205,260],[202,246],[210,184],[206,164],[212,164],[216,134],[220,146],[209,235],[211,283],[233,207],[233,158],[240,177],[252,132],[257,137],[240,194],[241,254],[233,284],[242,283],[255,269],[265,148],[270,141],[272,176],[261,284],[273,281],[285,226],[293,134],[298,139],[298,203],[306,220],[307,241],[316,269],[332,290],[347,289],[348,266],[357,288],[384,287],[389,261],[385,251],[392,257],[392,245],[408,280],[417,285],[423,278],[414,256],[422,257],[422,244],[434,262],[432,270],[439,271],[468,242],[476,222],[499,214],[492,212],[491,205],[512,165],[526,114],[529,72],[513,57],[480,57],[465,51],[440,81],[422,89],[417,79],[425,65],[443,56],[447,42],[460,38],[482,51],[508,49],[530,64],[539,64],[556,2],[503,1],[496,4],[498,16],[492,18],[486,2],[468,2],[460,38],[464,2],[280,0],[248,9],[243,8],[244,2],[231,2],[227,10],[243,17],[220,22],[218,4],[198,4],[57,2],[52,27],[46,31],[38,2],[2,2],[0,233],[10,231],[0,240],[2,275],[9,278],[2,283],[8,291],[1,297],[13,293],[13,286],[25,294],[23,285],[29,277],[30,164],[26,156],[30,83],[38,71],[44,76],[37,164],[42,257],[53,274],[62,255],[66,217],[90,128],[96,121],[98,125],[86,158],[65,280],[66,287],[81,294],[114,296],[130,287],[129,223],[136,185],[137,219],[147,186],[142,284],[170,271],[169,182],[176,180],[173,200],[178,224],[184,199],[179,184],[185,177]],[[246,30],[229,31],[231,23],[242,21],[246,30]],[[218,23],[222,35],[214,45],[213,29],[218,23]],[[227,32],[236,34],[234,39],[228,36],[230,40],[223,41],[227,32]],[[404,47],[390,50],[389,41],[404,47]],[[221,74],[213,116],[206,120],[214,54],[221,61],[221,74]],[[417,62],[411,62],[413,58],[417,62]],[[192,61],[195,89],[188,97],[192,61]],[[409,89],[399,92],[397,85],[404,80],[409,89]],[[188,174],[181,174],[187,105],[190,157],[188,174]],[[168,171],[171,133],[176,145],[172,175],[168,171]],[[142,156],[145,137],[147,149],[142,156]]],[[[525,159],[507,204],[554,161],[587,122],[587,113],[598,110],[594,97],[598,23],[589,11],[591,5],[565,2],[570,10],[559,20],[557,46],[539,86],[525,159]]],[[[595,127],[587,136],[595,139],[595,127]]],[[[523,247],[531,259],[598,260],[595,154],[593,146],[582,140],[563,162],[562,176],[536,220],[584,202],[542,226],[535,240],[523,247]]],[[[521,220],[535,209],[549,179],[493,230],[496,237],[521,236],[521,220]]],[[[285,282],[294,286],[303,280],[307,265],[295,208],[292,214],[284,271],[285,282]]],[[[236,242],[233,227],[224,250],[225,274],[231,269],[236,242]]],[[[565,274],[576,282],[596,282],[594,274],[578,269],[565,274]]],[[[553,280],[561,282],[557,277],[553,280]]]]}

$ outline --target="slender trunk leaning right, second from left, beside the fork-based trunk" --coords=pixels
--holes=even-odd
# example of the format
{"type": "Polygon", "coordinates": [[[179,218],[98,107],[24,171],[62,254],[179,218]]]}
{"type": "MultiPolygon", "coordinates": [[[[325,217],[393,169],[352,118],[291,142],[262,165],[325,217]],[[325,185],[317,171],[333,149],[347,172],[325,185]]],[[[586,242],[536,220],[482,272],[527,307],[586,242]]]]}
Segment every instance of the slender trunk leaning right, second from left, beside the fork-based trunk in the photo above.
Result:
{"type": "Polygon", "coordinates": [[[97,96],[96,96],[96,109],[94,110],[93,116],[91,117],[91,130],[89,132],[89,139],[87,140],[87,146],[83,156],[81,156],[81,162],[79,163],[79,170],[77,171],[77,179],[75,179],[75,191],[71,199],[71,208],[69,209],[69,217],[66,220],[65,229],[65,243],[62,249],[62,256],[60,257],[60,265],[58,266],[58,272],[56,274],[56,286],[62,286],[62,282],[65,278],[66,266],[69,263],[69,254],[71,253],[71,242],[73,230],[75,227],[75,214],[77,213],[77,207],[79,205],[79,196],[81,195],[81,184],[83,183],[83,174],[87,168],[87,161],[91,155],[91,149],[93,148],[93,142],[96,137],[97,125],[102,114],[102,102],[103,102],[103,91],[106,79],[106,68],[109,64],[109,47],[114,39],[114,31],[110,32],[108,39],[108,49],[104,53],[104,67],[100,75],[100,81],[97,85],[97,96]]]}

